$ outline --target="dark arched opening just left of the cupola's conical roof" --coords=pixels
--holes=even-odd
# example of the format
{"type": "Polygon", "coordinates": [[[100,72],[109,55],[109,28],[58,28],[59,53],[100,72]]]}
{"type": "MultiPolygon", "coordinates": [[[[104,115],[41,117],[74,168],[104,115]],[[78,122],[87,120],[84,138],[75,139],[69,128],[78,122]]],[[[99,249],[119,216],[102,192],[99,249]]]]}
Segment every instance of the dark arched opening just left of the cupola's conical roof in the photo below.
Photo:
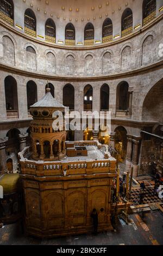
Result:
{"type": "Polygon", "coordinates": [[[37,102],[37,86],[34,81],[28,81],[27,83],[27,106],[28,110],[37,102]]]}

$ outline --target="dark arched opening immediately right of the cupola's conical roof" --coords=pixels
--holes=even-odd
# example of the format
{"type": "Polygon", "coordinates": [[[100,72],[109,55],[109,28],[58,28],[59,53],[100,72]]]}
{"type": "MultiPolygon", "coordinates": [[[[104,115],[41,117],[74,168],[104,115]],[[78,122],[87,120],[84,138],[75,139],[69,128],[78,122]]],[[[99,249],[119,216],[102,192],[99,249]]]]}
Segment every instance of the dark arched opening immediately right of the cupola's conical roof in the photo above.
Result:
{"type": "Polygon", "coordinates": [[[63,89],[63,105],[74,110],[74,87],[71,84],[66,84],[63,89]]]}

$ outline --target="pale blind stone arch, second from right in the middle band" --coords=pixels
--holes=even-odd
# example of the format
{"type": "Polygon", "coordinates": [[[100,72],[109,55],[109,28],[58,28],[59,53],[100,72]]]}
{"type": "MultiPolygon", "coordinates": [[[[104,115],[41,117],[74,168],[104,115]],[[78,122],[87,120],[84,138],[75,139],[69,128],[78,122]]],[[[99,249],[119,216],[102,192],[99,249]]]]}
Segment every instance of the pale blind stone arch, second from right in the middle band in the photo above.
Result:
{"type": "Polygon", "coordinates": [[[121,52],[121,71],[131,69],[131,47],[126,45],[121,52]]]}

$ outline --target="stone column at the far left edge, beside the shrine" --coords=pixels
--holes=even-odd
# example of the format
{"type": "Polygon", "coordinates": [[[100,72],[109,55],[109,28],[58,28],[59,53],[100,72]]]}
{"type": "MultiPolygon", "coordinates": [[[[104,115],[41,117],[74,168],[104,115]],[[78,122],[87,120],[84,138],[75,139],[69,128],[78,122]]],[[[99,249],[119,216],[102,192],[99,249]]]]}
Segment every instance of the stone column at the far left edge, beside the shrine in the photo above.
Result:
{"type": "Polygon", "coordinates": [[[8,137],[0,139],[0,174],[6,173],[8,171],[7,168],[7,157],[5,153],[5,146],[8,142],[8,137]]]}

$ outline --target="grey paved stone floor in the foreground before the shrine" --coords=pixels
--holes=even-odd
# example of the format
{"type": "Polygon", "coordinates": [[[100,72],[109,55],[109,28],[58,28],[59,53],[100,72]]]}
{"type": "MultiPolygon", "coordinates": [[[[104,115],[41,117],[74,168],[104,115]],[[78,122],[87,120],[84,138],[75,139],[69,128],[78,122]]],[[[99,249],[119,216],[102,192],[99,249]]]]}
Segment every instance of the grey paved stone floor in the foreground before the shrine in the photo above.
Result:
{"type": "Polygon", "coordinates": [[[120,220],[117,232],[44,240],[24,236],[16,224],[10,224],[0,229],[0,245],[163,245],[163,215],[160,211],[146,214],[144,222],[137,214],[130,217],[133,222],[129,225],[120,220]]]}

